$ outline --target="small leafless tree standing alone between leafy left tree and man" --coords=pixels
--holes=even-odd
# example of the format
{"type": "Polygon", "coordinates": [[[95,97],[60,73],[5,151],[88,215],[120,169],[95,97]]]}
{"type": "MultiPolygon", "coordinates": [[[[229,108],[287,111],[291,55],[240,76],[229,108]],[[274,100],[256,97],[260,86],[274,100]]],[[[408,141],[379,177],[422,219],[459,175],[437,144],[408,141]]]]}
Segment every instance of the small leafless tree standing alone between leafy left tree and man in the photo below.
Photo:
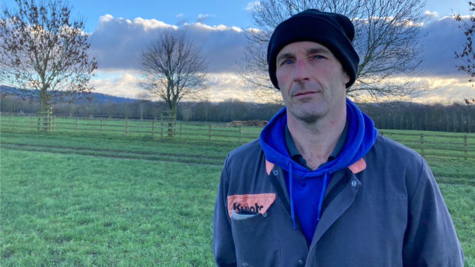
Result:
{"type": "Polygon", "coordinates": [[[142,95],[164,100],[176,111],[182,99],[201,99],[207,91],[207,68],[201,48],[186,33],[165,30],[139,52],[142,95]]]}

